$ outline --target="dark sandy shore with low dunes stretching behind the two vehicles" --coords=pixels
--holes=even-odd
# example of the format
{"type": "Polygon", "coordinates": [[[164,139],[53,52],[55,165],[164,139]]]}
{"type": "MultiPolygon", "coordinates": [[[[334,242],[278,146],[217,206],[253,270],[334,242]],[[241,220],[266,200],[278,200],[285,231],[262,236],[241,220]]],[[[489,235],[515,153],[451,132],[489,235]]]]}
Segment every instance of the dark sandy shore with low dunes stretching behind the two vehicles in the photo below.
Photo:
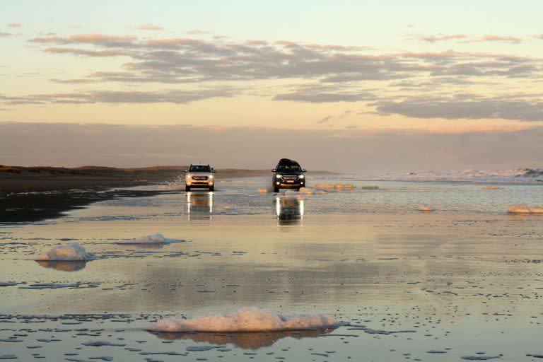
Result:
{"type": "MultiPolygon", "coordinates": [[[[187,166],[149,168],[16,167],[0,165],[0,224],[28,223],[58,218],[66,211],[81,209],[93,202],[121,197],[151,197],[168,190],[112,189],[153,185],[183,175],[187,166]]],[[[270,169],[271,170],[271,169],[270,169]]],[[[270,170],[221,169],[223,179],[271,175],[270,170]]],[[[334,173],[313,172],[333,175],[334,173]]]]}

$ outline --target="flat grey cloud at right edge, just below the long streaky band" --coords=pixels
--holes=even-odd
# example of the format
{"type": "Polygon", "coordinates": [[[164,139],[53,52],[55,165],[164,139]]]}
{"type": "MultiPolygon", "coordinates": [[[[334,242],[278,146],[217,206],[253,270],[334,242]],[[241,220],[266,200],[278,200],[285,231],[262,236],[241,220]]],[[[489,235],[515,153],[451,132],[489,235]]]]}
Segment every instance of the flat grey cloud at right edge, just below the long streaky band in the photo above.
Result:
{"type": "Polygon", "coordinates": [[[516,119],[543,121],[543,100],[513,97],[484,98],[457,95],[452,98],[414,97],[402,101],[373,103],[380,115],[404,115],[414,118],[516,119]]]}

